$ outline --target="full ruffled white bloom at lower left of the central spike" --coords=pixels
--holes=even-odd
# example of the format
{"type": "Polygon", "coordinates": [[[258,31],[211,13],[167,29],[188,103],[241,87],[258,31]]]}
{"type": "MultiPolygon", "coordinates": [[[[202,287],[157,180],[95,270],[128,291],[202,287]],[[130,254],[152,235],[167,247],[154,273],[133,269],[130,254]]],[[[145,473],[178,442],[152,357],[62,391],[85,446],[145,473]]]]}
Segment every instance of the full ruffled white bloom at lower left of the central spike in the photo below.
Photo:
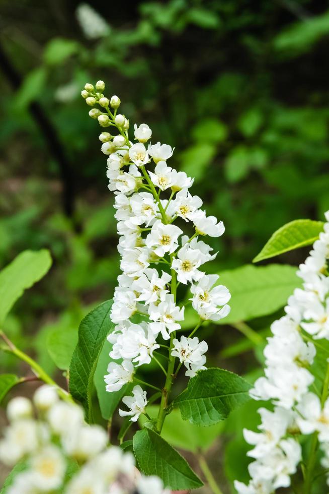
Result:
{"type": "Polygon", "coordinates": [[[113,343],[111,358],[129,359],[137,362],[136,365],[150,363],[153,351],[159,348],[154,334],[145,322],[130,323],[126,329],[122,329],[122,332],[111,333],[108,340],[113,343]]]}

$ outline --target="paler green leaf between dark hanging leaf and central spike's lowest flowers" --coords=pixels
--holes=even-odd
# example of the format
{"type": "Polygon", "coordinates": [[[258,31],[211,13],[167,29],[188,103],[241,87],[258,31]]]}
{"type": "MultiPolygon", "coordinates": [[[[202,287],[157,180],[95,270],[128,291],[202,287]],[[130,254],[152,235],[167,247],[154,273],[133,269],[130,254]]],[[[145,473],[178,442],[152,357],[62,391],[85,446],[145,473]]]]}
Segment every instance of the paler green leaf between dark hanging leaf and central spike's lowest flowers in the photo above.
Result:
{"type": "Polygon", "coordinates": [[[112,417],[114,411],[116,410],[118,404],[121,401],[121,398],[129,394],[131,387],[129,384],[126,384],[119,391],[113,391],[112,393],[106,391],[104,376],[108,374],[107,367],[109,365],[109,362],[111,361],[111,358],[109,356],[111,350],[112,350],[111,343],[105,340],[98,359],[95,376],[94,376],[94,383],[97,391],[97,397],[100,404],[102,417],[105,420],[109,420],[112,417]]]}

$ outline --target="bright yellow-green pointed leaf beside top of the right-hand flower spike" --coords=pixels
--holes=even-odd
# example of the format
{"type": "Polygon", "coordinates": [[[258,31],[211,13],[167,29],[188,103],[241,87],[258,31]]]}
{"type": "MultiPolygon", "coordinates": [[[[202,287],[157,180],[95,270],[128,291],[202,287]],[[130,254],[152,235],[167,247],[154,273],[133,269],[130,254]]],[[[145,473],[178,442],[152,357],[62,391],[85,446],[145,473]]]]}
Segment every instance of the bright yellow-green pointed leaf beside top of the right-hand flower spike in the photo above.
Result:
{"type": "Polygon", "coordinates": [[[253,263],[314,243],[323,231],[323,225],[322,221],[290,221],[273,233],[253,263]]]}

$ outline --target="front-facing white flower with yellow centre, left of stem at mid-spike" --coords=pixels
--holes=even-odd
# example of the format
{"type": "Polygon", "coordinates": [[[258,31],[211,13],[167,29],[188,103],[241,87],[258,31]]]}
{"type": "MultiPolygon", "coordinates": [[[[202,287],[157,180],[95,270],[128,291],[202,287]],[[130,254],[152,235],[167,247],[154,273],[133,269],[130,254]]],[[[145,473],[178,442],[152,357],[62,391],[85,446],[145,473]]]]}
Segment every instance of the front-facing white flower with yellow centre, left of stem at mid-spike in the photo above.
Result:
{"type": "Polygon", "coordinates": [[[153,249],[156,256],[163,257],[164,254],[171,254],[177,249],[178,237],[182,233],[178,226],[164,225],[161,220],[156,220],[145,243],[149,249],[153,249]]]}

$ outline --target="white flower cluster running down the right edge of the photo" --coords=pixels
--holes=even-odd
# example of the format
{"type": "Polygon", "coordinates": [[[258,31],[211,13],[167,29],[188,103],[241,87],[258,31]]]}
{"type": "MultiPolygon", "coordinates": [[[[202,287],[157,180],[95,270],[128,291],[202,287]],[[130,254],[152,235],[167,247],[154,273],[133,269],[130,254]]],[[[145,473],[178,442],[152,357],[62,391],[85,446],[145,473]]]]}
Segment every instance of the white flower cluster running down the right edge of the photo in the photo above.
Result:
{"type": "MultiPolygon", "coordinates": [[[[329,212],[325,218],[328,222],[329,212]]],[[[303,289],[294,291],[285,307],[286,315],[271,326],[273,335],[264,350],[265,377],[256,381],[251,396],[270,400],[274,409],[259,409],[259,433],[243,431],[245,440],[254,446],[248,455],[255,461],[249,465],[250,484],[235,481],[239,494],[270,494],[279,487],[288,487],[290,475],[301,460],[296,440],[299,434],[315,433],[313,444],[320,444],[322,466],[329,466],[329,364],[322,390],[313,385],[316,373],[311,366],[316,340],[329,339],[328,259],[329,223],[325,223],[309,257],[299,266],[297,274],[303,280],[303,289]],[[314,392],[309,391],[310,386],[314,392]]],[[[312,459],[310,465],[304,463],[307,484],[312,459]]]]}

